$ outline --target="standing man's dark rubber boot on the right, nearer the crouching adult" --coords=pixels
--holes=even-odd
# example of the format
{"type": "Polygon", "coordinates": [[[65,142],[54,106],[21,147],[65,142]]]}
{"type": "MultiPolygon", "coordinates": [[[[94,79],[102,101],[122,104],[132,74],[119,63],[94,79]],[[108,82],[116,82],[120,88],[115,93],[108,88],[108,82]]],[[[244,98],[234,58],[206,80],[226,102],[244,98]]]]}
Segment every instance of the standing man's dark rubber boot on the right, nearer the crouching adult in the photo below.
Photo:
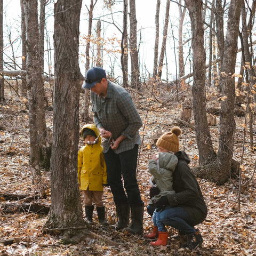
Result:
{"type": "Polygon", "coordinates": [[[131,234],[141,235],[143,233],[143,213],[144,202],[141,204],[131,204],[132,224],[130,227],[125,228],[131,234]]]}

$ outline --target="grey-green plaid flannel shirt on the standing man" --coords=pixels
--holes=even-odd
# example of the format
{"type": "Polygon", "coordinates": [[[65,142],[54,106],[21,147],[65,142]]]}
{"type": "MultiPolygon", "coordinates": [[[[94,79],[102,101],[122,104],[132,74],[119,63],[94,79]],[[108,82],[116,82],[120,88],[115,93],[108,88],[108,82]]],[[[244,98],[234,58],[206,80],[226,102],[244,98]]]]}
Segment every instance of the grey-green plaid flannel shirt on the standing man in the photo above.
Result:
{"type": "MultiPolygon", "coordinates": [[[[139,129],[142,121],[135,108],[131,95],[120,85],[108,81],[106,97],[99,97],[91,91],[94,123],[99,129],[105,128],[112,133],[112,139],[124,135],[115,153],[130,150],[135,144],[141,145],[139,129]]],[[[103,142],[103,153],[110,147],[108,140],[103,142]]]]}

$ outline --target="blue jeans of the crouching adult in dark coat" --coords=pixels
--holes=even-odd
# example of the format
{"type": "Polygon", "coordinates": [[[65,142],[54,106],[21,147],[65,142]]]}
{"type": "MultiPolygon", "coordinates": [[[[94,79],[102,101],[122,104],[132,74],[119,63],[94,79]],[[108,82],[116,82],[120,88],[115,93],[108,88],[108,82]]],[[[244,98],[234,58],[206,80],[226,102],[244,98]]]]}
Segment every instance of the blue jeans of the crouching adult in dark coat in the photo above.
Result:
{"type": "MultiPolygon", "coordinates": [[[[153,215],[154,210],[154,206],[147,206],[149,215],[153,215]]],[[[188,224],[188,222],[190,222],[189,215],[182,207],[167,206],[165,210],[159,214],[159,219],[165,226],[176,228],[187,235],[194,234],[196,232],[195,228],[188,224]]]]}

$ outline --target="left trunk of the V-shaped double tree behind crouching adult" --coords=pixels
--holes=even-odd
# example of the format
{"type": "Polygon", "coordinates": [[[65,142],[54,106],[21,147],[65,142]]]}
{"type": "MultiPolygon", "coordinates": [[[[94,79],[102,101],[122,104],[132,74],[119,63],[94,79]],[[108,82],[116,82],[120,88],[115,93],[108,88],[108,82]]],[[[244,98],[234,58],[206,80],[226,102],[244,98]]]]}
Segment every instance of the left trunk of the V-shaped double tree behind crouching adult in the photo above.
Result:
{"type": "Polygon", "coordinates": [[[193,111],[195,119],[196,140],[199,151],[199,164],[204,165],[215,157],[211,134],[208,127],[205,103],[205,50],[204,26],[202,20],[201,0],[185,0],[191,19],[193,73],[192,87],[193,111]]]}

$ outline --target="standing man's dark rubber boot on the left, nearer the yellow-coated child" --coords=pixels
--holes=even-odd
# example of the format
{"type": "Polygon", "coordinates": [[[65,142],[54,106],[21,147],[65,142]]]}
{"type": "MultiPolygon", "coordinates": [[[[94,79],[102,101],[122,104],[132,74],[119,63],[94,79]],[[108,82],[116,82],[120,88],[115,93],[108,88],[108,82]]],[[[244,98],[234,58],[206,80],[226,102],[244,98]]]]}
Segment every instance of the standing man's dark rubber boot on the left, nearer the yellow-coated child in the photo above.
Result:
{"type": "Polygon", "coordinates": [[[127,202],[115,202],[115,204],[117,222],[115,225],[110,225],[110,228],[119,230],[127,227],[129,224],[130,206],[127,202]]]}

